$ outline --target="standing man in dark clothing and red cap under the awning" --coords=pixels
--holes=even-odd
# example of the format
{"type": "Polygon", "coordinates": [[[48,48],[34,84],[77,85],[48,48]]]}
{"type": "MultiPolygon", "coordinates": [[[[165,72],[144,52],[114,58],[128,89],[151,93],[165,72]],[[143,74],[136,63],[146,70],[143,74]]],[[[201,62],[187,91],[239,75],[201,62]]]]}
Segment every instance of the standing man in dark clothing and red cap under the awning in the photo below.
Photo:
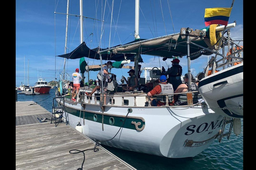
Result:
{"type": "Polygon", "coordinates": [[[180,60],[178,58],[173,59],[172,67],[164,75],[169,76],[168,82],[173,85],[173,90],[175,91],[177,87],[182,84],[181,75],[182,67],[179,65],[180,60]]]}

